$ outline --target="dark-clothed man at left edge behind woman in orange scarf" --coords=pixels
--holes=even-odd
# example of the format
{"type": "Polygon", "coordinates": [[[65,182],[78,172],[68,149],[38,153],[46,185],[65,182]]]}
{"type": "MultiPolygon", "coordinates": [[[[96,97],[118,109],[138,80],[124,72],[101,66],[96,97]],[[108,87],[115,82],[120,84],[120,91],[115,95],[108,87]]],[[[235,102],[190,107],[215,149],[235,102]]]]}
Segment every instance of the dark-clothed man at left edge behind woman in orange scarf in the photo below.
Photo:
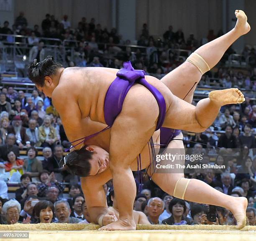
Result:
{"type": "Polygon", "coordinates": [[[17,147],[15,144],[15,135],[14,134],[8,134],[6,137],[6,144],[0,146],[0,161],[8,161],[7,154],[9,151],[13,151],[15,156],[18,157],[20,155],[19,147],[17,147]]]}

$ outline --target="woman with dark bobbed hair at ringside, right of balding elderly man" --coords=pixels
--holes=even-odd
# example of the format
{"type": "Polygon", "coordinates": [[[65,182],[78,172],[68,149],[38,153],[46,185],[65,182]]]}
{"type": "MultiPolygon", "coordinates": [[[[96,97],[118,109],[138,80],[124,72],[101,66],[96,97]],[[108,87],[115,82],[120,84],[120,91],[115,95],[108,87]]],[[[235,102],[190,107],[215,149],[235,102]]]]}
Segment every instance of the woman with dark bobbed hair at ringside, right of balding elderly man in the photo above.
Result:
{"type": "Polygon", "coordinates": [[[184,200],[179,198],[172,199],[172,201],[169,203],[169,210],[172,213],[172,216],[170,218],[164,219],[162,223],[168,225],[190,225],[191,222],[189,221],[189,219],[187,217],[184,217],[186,209],[187,207],[184,200]]]}

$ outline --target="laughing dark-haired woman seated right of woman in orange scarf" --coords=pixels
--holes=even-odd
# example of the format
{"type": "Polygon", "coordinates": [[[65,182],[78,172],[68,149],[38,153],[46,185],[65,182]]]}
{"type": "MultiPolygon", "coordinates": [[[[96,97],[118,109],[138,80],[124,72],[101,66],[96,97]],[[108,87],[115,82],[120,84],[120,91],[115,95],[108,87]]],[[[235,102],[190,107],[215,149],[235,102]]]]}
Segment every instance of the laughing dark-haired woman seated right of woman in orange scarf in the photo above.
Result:
{"type": "Polygon", "coordinates": [[[27,156],[24,160],[23,168],[31,177],[39,177],[39,173],[43,170],[42,162],[36,158],[37,150],[35,147],[27,149],[27,156]]]}

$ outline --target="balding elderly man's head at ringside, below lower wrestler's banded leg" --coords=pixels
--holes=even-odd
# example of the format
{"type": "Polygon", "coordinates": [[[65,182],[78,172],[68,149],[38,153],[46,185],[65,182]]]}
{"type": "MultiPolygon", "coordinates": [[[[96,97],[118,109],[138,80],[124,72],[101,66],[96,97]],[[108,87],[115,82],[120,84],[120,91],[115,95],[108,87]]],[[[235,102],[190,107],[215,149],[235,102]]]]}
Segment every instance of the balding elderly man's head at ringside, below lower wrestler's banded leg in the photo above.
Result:
{"type": "Polygon", "coordinates": [[[148,221],[151,224],[159,224],[159,216],[164,212],[164,201],[161,198],[150,198],[146,206],[148,221]]]}

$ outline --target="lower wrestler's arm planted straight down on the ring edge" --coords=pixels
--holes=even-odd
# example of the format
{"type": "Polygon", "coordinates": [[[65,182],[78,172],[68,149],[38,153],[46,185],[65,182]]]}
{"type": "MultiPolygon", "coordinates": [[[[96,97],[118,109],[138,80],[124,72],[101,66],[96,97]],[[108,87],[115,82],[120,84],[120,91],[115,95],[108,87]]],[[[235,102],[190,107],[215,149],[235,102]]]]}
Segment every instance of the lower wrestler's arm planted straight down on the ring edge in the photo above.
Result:
{"type": "Polygon", "coordinates": [[[106,194],[103,185],[112,178],[110,168],[95,176],[81,177],[81,187],[92,222],[108,212],[106,194]]]}

